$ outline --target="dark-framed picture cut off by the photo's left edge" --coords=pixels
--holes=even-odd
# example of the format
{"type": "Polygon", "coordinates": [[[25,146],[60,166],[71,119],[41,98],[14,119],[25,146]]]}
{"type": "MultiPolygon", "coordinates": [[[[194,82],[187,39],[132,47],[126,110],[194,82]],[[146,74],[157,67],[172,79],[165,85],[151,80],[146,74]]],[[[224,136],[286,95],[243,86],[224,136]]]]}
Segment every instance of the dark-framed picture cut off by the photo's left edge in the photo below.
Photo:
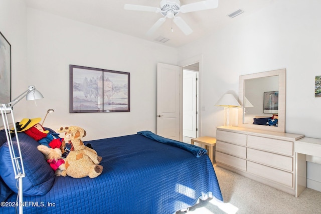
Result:
{"type": "Polygon", "coordinates": [[[11,45],[0,32],[0,103],[11,102],[11,45]]]}

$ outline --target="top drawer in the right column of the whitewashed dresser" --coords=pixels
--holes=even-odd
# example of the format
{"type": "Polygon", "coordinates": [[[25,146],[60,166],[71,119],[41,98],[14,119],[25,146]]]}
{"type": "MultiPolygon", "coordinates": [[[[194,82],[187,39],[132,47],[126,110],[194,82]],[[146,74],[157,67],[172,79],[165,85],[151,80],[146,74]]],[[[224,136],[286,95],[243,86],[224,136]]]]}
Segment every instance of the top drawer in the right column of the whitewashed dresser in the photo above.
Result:
{"type": "Polygon", "coordinates": [[[293,142],[248,135],[247,146],[279,154],[293,155],[293,142]]]}

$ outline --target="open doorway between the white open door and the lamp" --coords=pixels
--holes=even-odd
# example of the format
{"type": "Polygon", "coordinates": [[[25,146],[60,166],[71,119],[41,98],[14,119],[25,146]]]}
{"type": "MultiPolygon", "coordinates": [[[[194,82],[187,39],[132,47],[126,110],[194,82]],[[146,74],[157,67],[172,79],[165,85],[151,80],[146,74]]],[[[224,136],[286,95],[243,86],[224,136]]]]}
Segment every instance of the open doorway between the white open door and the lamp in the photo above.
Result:
{"type": "Polygon", "coordinates": [[[199,136],[199,63],[183,67],[183,142],[199,136]]]}

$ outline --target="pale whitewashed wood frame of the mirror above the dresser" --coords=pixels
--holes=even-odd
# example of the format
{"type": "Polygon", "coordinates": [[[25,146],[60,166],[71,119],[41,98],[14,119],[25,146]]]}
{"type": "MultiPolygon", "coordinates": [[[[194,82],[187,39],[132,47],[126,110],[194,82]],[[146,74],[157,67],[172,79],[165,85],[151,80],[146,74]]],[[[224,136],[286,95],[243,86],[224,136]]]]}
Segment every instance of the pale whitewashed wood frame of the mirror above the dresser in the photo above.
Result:
{"type": "Polygon", "coordinates": [[[239,101],[242,105],[238,113],[238,126],[243,128],[251,128],[265,131],[285,132],[285,94],[286,94],[286,69],[279,69],[273,71],[260,72],[255,74],[241,75],[239,78],[239,101]],[[279,103],[278,103],[278,126],[264,126],[256,124],[243,123],[244,112],[244,81],[247,79],[254,79],[260,77],[279,76],[279,103]]]}

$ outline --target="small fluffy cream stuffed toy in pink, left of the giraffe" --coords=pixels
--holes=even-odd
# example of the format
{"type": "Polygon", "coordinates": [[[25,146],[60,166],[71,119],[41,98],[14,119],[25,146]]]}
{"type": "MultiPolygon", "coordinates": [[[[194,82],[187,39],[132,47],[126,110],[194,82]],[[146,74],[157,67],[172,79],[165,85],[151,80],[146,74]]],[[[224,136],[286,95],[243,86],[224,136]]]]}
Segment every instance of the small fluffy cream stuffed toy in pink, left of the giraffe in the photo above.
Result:
{"type": "Polygon", "coordinates": [[[60,176],[61,172],[66,169],[61,149],[59,147],[51,148],[42,144],[37,146],[37,148],[45,155],[45,159],[55,171],[56,176],[60,176]]]}

